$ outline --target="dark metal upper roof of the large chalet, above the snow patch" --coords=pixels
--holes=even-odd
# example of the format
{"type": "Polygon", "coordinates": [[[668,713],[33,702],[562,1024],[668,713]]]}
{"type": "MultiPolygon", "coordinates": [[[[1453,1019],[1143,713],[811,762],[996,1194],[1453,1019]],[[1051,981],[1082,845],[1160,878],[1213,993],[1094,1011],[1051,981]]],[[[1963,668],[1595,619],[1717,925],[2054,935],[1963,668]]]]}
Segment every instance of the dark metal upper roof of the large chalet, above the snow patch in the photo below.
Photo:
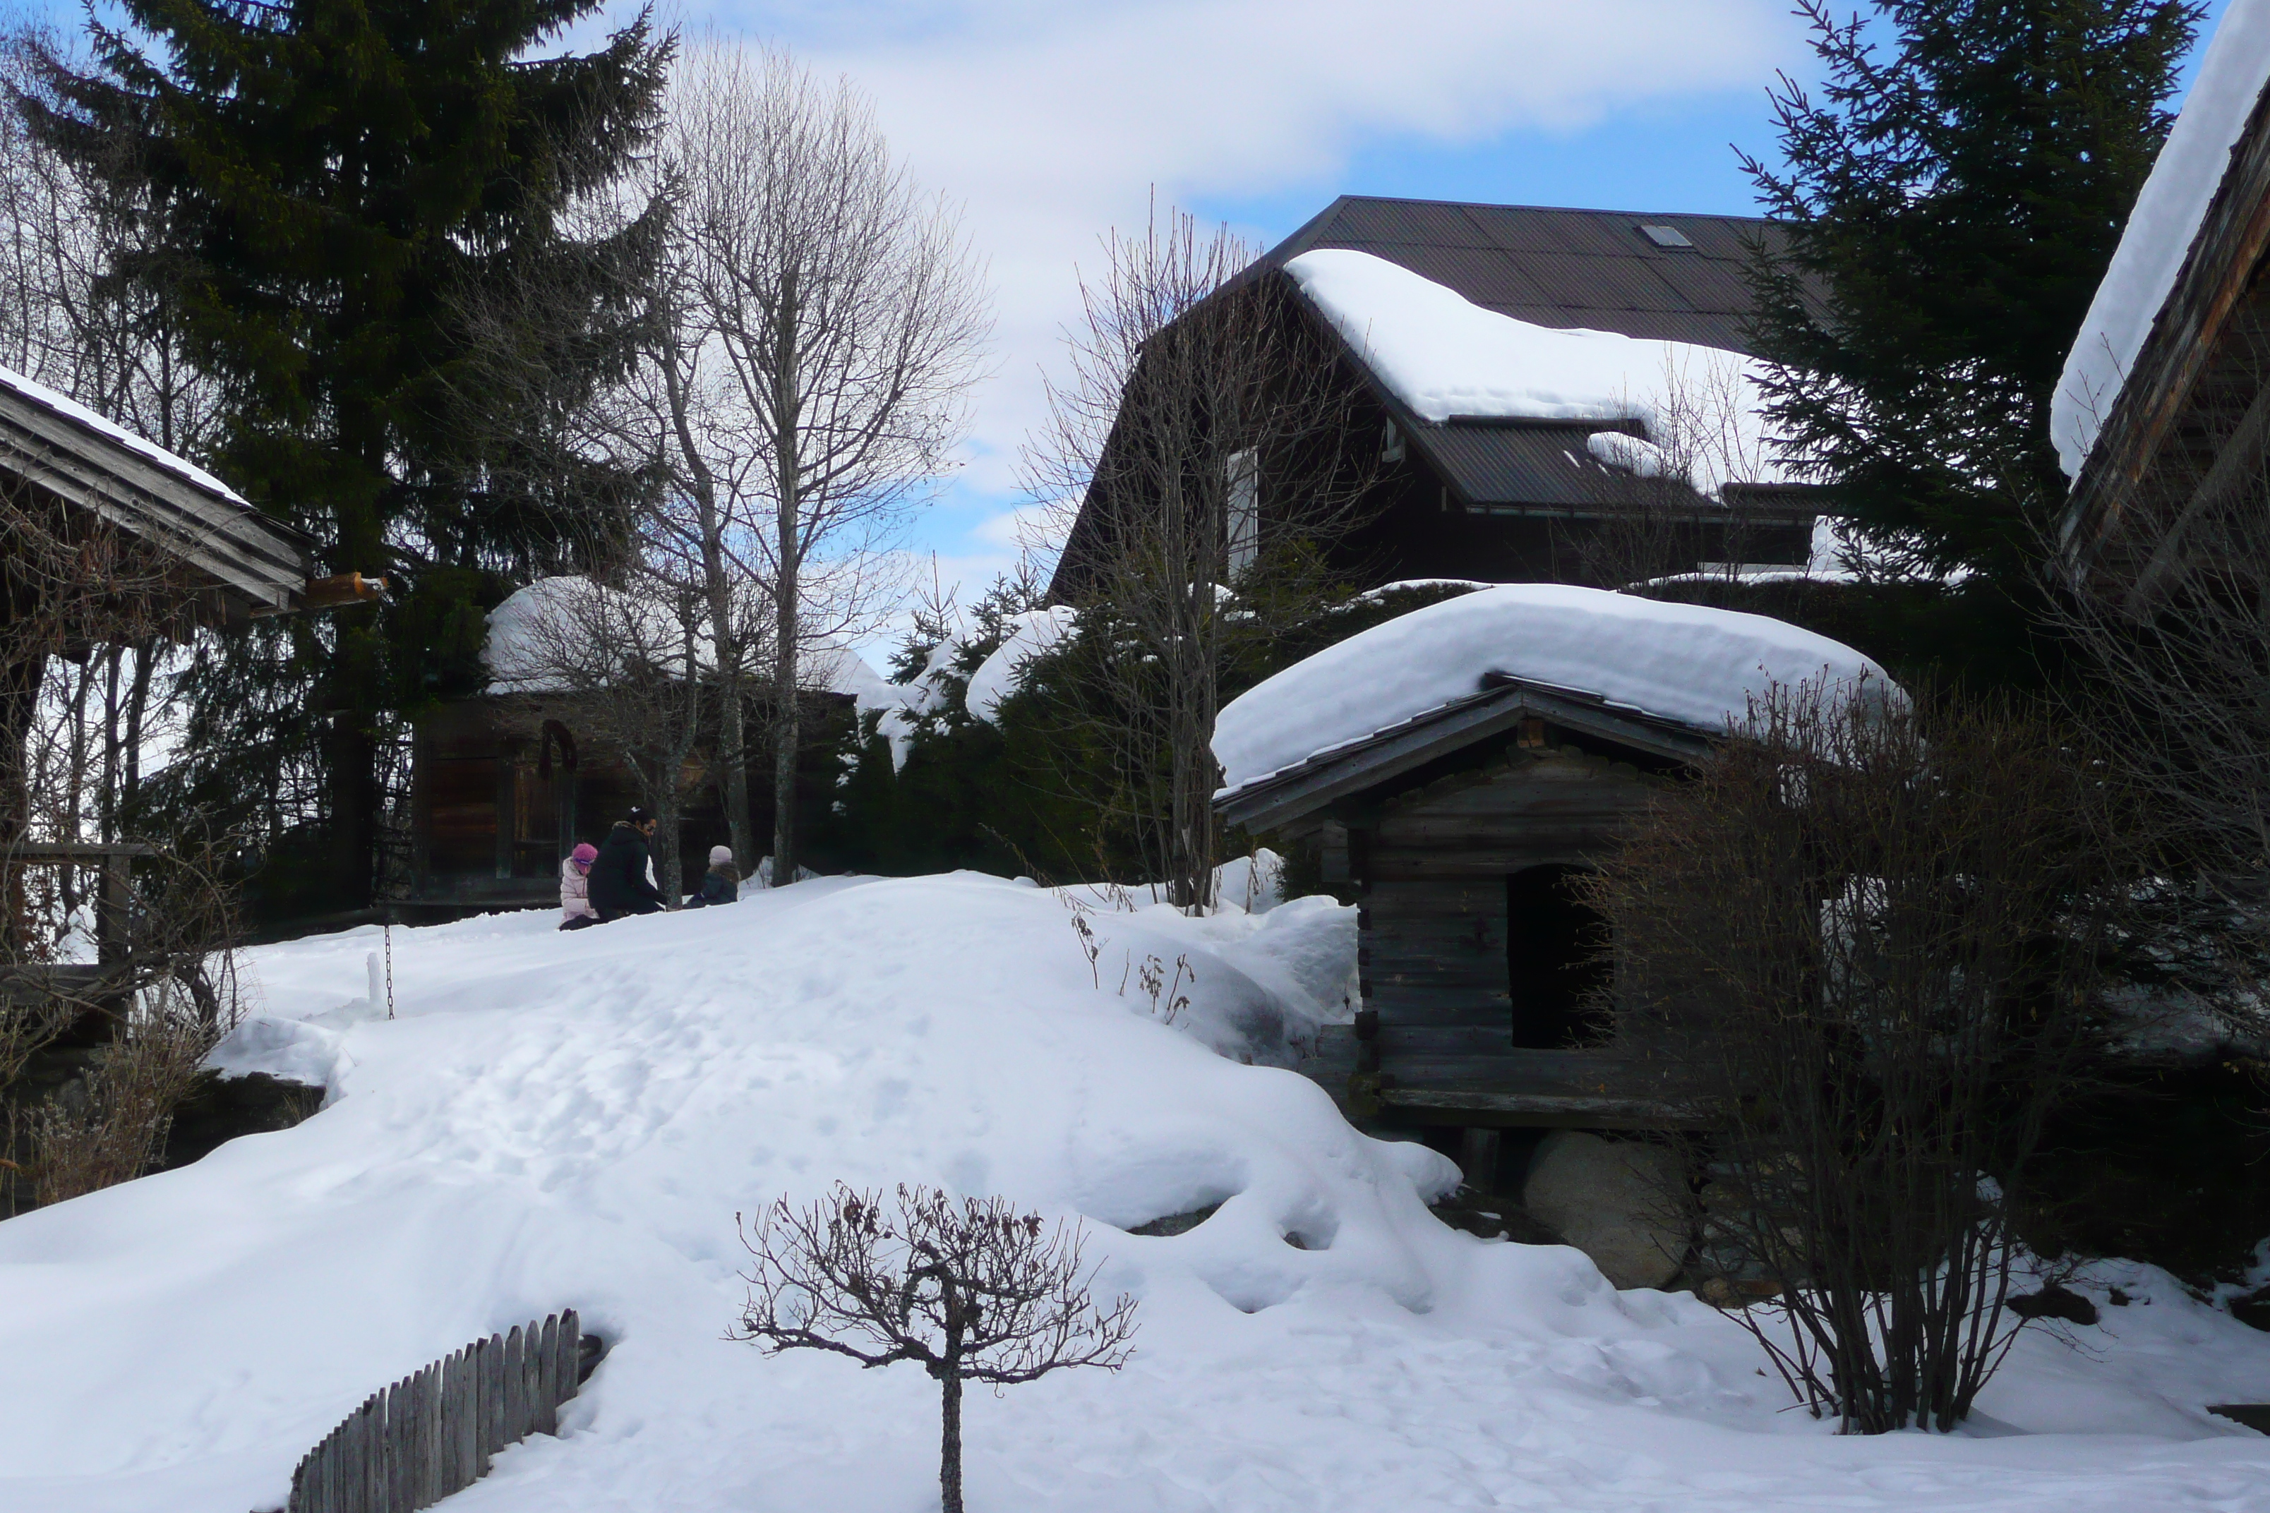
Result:
{"type": "Polygon", "coordinates": [[[1755,215],[1559,211],[1344,195],[1262,259],[1348,247],[1539,327],[1584,327],[1755,352],[1743,268],[1784,231],[1755,215]],[[1657,247],[1641,227],[1693,247],[1657,247]]]}

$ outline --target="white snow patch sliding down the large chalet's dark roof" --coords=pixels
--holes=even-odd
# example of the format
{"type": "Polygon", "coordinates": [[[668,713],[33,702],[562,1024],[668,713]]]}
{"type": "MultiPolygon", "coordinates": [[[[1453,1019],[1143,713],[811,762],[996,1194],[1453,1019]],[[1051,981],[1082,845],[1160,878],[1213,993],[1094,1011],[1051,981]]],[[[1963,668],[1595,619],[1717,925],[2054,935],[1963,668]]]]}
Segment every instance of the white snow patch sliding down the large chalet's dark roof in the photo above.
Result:
{"type": "Polygon", "coordinates": [[[1421,420],[1637,420],[1714,499],[1725,483],[1782,479],[1762,367],[1739,352],[1537,327],[1369,252],[1303,252],[1285,272],[1421,420]]]}

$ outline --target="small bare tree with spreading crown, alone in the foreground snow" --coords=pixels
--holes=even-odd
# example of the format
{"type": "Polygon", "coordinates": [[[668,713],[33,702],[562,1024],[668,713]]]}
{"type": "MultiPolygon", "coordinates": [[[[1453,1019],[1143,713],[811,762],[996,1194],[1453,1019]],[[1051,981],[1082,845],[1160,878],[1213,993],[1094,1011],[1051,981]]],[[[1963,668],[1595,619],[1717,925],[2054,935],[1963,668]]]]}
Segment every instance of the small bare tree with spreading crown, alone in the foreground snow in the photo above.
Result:
{"type": "Polygon", "coordinates": [[[962,1513],[962,1381],[999,1391],[1067,1366],[1128,1361],[1135,1300],[1090,1298],[1083,1239],[1078,1225],[1051,1227],[1006,1198],[956,1202],[926,1186],[901,1184],[894,1207],[842,1182],[804,1209],[781,1198],[754,1234],[742,1227],[756,1263],[733,1338],[869,1368],[919,1363],[944,1402],[944,1513],[962,1513]]]}

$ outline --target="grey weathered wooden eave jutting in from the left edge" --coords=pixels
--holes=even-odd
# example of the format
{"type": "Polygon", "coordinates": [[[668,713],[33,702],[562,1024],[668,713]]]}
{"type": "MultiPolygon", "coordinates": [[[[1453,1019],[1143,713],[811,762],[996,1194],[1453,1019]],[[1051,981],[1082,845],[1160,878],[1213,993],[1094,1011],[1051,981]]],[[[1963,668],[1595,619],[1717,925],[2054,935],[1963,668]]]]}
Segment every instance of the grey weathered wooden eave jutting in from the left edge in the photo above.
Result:
{"type": "Polygon", "coordinates": [[[300,608],[313,574],[313,542],[300,531],[7,386],[0,472],[188,563],[241,615],[300,608]]]}

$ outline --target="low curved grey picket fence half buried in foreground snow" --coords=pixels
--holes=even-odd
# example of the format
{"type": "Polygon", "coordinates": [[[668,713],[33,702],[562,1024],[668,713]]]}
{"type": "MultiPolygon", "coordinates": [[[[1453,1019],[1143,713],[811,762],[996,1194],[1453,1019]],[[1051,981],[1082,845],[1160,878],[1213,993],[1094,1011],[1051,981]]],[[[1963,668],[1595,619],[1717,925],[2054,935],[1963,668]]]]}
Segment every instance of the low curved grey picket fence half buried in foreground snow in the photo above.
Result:
{"type": "Polygon", "coordinates": [[[574,1309],[474,1341],[372,1393],[291,1474],[288,1513],[411,1513],[488,1474],[490,1456],[558,1434],[583,1334],[574,1309]]]}

